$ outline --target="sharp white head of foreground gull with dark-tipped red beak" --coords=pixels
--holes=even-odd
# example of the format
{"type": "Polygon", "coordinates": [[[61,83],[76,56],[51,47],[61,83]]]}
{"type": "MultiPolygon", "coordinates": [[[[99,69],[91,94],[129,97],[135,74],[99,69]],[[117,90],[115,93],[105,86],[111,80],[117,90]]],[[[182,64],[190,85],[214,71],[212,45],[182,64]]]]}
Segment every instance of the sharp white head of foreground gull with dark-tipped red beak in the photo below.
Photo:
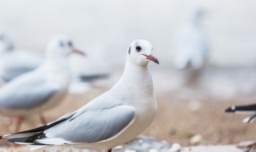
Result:
{"type": "Polygon", "coordinates": [[[132,42],[127,51],[127,59],[139,66],[146,66],[150,61],[159,64],[158,58],[152,54],[153,46],[146,40],[132,42]]]}

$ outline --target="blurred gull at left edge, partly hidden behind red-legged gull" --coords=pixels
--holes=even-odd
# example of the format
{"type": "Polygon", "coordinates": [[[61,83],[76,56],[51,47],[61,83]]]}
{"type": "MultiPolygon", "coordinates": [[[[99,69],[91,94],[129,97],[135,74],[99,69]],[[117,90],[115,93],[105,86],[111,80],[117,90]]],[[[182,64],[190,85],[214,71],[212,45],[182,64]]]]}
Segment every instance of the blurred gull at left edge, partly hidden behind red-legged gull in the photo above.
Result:
{"type": "Polygon", "coordinates": [[[42,65],[43,59],[37,55],[18,50],[8,30],[0,30],[0,78],[10,82],[21,74],[25,74],[42,65]]]}

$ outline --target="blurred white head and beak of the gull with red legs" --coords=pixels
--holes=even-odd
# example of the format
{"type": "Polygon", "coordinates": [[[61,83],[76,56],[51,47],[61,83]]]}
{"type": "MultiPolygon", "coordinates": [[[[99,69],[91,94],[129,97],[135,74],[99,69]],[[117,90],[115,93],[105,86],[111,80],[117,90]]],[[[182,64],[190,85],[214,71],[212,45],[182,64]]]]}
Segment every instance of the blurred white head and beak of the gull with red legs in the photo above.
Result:
{"type": "Polygon", "coordinates": [[[52,38],[47,46],[47,58],[67,58],[70,54],[85,55],[81,50],[74,48],[74,44],[66,35],[58,35],[52,38]]]}

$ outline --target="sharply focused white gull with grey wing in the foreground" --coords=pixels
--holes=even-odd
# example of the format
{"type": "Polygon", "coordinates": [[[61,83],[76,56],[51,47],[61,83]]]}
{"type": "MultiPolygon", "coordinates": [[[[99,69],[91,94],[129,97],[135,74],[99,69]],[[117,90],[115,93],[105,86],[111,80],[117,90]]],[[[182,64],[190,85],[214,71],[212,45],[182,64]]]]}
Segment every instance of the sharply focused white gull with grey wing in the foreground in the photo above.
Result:
{"type": "Polygon", "coordinates": [[[146,40],[132,42],[119,81],[82,108],[46,126],[3,135],[9,142],[39,146],[77,146],[102,152],[129,142],[153,122],[157,110],[148,63],[159,64],[146,40]]]}

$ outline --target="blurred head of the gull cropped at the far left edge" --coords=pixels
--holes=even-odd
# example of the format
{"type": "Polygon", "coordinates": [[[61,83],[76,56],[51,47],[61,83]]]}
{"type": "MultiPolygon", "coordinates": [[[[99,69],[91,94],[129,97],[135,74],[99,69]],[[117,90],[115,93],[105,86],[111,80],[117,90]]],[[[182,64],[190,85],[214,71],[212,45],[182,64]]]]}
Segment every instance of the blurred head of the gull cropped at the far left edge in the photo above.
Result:
{"type": "Polygon", "coordinates": [[[14,50],[14,42],[7,30],[0,30],[0,52],[14,50]]]}

